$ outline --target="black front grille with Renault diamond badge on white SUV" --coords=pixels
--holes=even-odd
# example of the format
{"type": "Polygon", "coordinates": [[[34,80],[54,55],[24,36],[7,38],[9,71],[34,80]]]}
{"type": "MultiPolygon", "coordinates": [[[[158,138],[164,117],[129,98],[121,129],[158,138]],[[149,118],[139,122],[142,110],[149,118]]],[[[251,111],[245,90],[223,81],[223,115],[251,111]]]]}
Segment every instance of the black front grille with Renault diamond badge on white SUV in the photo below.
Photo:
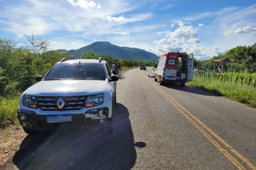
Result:
{"type": "Polygon", "coordinates": [[[38,96],[37,108],[42,111],[74,111],[85,106],[86,96],[38,96]]]}

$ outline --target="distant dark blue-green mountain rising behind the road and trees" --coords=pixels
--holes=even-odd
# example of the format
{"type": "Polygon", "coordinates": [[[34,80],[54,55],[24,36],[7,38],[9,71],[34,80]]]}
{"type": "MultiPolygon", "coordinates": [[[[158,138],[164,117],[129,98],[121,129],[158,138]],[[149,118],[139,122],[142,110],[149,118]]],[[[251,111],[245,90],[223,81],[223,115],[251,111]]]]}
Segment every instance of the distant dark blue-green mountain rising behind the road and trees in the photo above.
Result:
{"type": "Polygon", "coordinates": [[[91,50],[100,56],[111,56],[118,58],[119,60],[141,60],[143,62],[158,60],[157,55],[147,52],[146,50],[139,48],[119,47],[106,41],[97,41],[79,49],[71,49],[68,51],[65,49],[59,49],[58,51],[67,51],[76,58],[81,56],[82,53],[89,53],[91,50]]]}

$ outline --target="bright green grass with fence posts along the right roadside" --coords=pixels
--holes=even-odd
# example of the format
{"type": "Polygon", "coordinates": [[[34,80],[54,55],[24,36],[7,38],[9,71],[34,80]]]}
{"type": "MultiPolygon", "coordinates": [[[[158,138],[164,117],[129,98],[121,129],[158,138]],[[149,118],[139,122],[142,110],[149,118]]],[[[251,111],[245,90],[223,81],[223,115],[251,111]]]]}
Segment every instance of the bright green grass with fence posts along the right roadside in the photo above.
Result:
{"type": "Polygon", "coordinates": [[[189,85],[256,107],[256,73],[199,72],[189,85]]]}

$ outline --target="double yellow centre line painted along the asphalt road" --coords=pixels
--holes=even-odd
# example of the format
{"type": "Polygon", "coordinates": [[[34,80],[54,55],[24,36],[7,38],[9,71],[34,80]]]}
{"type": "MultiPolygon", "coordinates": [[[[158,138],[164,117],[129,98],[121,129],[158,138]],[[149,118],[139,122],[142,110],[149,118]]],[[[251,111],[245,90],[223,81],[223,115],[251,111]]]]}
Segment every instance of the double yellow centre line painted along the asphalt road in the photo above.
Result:
{"type": "MultiPolygon", "coordinates": [[[[147,77],[146,77],[147,78],[147,77]]],[[[176,100],[174,100],[170,95],[168,95],[165,91],[163,91],[161,88],[159,88],[153,81],[151,81],[149,78],[147,80],[168,100],[170,103],[178,109],[178,111],[185,116],[201,133],[205,135],[205,137],[210,140],[215,147],[217,147],[234,165],[236,165],[239,169],[245,169],[233,156],[231,156],[225,149],[223,149],[217,141],[215,141],[207,132],[205,132],[197,123],[201,124],[207,131],[209,131],[215,138],[217,138],[223,145],[225,145],[230,151],[232,151],[237,157],[239,157],[241,160],[243,160],[244,163],[246,163],[248,166],[250,166],[252,169],[256,169],[256,167],[249,162],[246,158],[244,158],[239,152],[237,152],[233,147],[228,145],[227,142],[225,142],[223,139],[221,139],[216,133],[214,133],[210,128],[208,128],[203,122],[198,120],[197,117],[195,117],[193,114],[191,114],[189,111],[187,111],[186,108],[184,108],[182,105],[180,105],[176,100]],[[183,109],[183,111],[182,111],[183,109]],[[194,118],[191,119],[185,112],[194,118]]]]}

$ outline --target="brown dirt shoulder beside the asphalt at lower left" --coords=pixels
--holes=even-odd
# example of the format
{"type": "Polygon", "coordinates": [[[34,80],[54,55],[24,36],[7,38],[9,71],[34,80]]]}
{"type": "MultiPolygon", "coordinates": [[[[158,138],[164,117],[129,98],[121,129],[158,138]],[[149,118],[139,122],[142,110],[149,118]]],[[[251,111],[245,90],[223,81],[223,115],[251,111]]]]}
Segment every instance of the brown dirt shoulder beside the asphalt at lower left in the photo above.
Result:
{"type": "Polygon", "coordinates": [[[0,129],[0,169],[20,149],[27,134],[20,125],[9,125],[0,129]]]}

